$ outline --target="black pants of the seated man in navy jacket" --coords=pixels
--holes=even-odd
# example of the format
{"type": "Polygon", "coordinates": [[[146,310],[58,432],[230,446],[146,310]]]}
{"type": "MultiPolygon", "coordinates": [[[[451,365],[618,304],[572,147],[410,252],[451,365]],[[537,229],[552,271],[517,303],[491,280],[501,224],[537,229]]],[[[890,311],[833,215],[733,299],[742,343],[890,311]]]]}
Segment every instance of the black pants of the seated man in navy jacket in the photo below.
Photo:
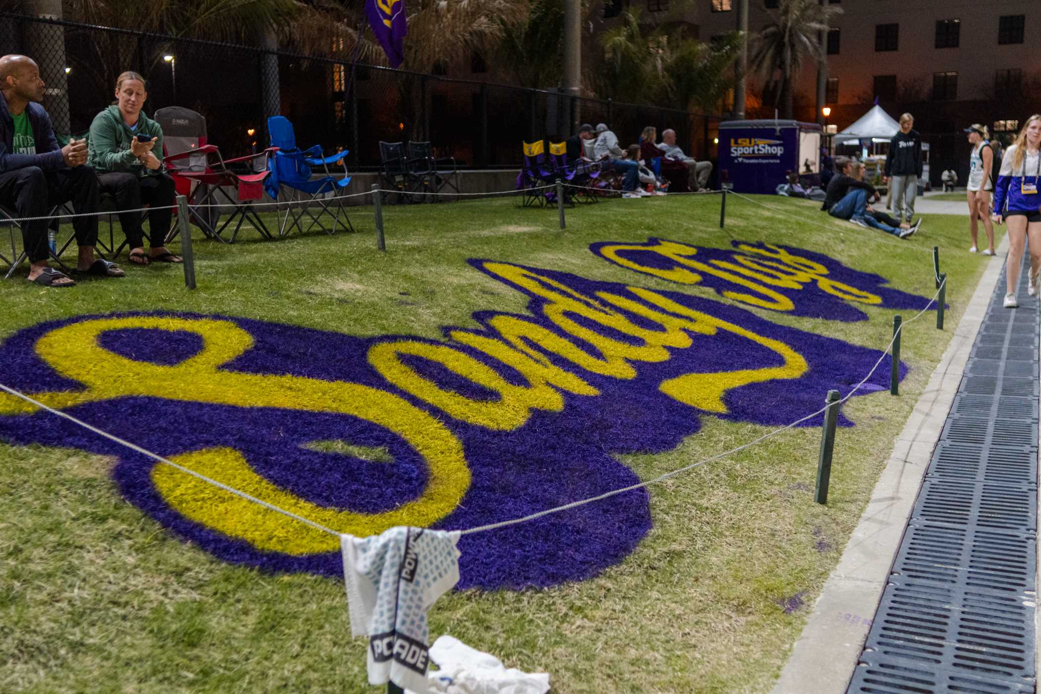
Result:
{"type": "MultiPolygon", "coordinates": [[[[39,166],[25,166],[0,174],[0,204],[14,209],[16,216],[44,216],[50,209],[72,201],[77,214],[97,212],[98,177],[90,166],[58,169],[47,174],[39,166]]],[[[22,243],[29,262],[47,259],[48,220],[22,223],[22,243]]],[[[76,245],[94,247],[98,242],[98,217],[74,216],[76,245]]]]}

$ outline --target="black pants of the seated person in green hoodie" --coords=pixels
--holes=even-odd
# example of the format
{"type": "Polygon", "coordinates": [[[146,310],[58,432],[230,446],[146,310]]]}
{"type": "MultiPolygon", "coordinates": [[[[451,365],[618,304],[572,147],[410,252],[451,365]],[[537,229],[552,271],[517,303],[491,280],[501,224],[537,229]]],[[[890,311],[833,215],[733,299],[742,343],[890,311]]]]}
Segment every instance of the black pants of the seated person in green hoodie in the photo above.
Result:
{"type": "MultiPolygon", "coordinates": [[[[142,176],[125,172],[99,174],[101,191],[116,198],[117,210],[137,210],[145,205],[169,207],[174,204],[174,179],[166,174],[142,176]]],[[[141,226],[141,212],[120,212],[120,224],[131,249],[144,248],[145,231],[141,226]]],[[[150,209],[148,211],[149,247],[157,249],[167,242],[173,209],[150,209]]]]}

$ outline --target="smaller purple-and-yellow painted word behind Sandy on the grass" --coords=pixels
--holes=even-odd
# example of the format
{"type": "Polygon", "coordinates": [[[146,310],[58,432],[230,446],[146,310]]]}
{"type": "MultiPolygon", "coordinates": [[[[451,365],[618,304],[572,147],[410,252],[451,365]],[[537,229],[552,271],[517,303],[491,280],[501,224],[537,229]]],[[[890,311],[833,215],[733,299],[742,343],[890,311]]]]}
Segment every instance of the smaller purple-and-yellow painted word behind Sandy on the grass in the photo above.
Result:
{"type": "Polygon", "coordinates": [[[678,284],[703,284],[727,299],[791,315],[866,320],[857,304],[920,310],[930,302],[884,286],[888,280],[881,275],[846,267],[820,253],[763,241],[733,246],[714,249],[652,237],[644,243],[602,241],[589,250],[628,269],[678,284]]]}

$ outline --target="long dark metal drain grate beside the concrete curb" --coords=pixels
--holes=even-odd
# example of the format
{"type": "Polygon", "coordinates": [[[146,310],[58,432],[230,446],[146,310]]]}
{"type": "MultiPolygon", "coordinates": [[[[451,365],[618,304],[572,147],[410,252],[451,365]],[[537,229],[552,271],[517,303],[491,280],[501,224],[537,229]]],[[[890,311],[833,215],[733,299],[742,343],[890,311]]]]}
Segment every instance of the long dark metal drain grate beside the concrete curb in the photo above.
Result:
{"type": "Polygon", "coordinates": [[[995,288],[848,692],[1035,692],[1038,311],[995,288]]]}

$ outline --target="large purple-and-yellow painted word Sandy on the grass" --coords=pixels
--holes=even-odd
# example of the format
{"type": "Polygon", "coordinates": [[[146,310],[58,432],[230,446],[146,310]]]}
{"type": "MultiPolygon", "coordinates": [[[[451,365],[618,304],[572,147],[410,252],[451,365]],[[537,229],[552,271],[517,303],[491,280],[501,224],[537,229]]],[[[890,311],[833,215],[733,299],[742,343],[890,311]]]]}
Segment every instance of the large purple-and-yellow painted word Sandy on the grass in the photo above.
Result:
{"type": "MultiPolygon", "coordinates": [[[[9,337],[6,381],[363,536],[399,524],[473,528],[632,485],[638,478],[617,455],[668,451],[705,415],[786,425],[829,389],[848,392],[880,356],[678,292],[471,263],[527,294],[527,312],[478,311],[478,328],[446,328],[441,340],[186,313],[80,316],[9,337]]],[[[885,386],[887,360],[860,392],[885,386]]],[[[340,574],[334,536],[12,396],[0,397],[0,438],[116,457],[127,499],[223,560],[340,574]]],[[[467,535],[460,586],[587,579],[650,528],[641,489],[467,535]]]]}

